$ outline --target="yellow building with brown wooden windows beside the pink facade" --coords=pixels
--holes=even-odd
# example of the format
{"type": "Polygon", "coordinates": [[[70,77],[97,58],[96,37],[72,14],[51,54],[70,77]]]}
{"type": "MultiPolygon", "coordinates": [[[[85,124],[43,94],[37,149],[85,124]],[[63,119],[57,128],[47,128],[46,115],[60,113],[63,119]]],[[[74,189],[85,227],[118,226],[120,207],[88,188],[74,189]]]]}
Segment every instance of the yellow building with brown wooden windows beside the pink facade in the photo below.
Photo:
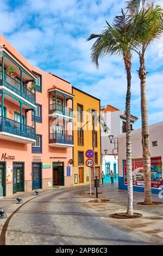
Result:
{"type": "MultiPolygon", "coordinates": [[[[100,114],[100,100],[82,90],[72,87],[74,112],[74,149],[73,149],[73,185],[90,183],[90,168],[86,167],[85,152],[92,149],[92,115],[88,110],[95,111],[96,117],[100,114]]],[[[95,142],[95,169],[100,178],[101,173],[101,131],[100,124],[96,125],[95,142]]],[[[92,168],[91,168],[92,170],[92,168]]],[[[92,172],[93,173],[93,170],[92,172]]],[[[91,174],[91,180],[93,181],[91,174]]]]}

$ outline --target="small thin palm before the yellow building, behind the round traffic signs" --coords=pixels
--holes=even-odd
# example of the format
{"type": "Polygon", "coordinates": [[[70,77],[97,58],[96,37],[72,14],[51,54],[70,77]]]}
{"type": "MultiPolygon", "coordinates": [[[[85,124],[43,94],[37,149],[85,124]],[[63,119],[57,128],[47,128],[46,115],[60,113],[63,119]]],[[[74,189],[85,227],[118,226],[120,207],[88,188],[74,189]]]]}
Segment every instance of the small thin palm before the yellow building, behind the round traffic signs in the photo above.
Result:
{"type": "MultiPolygon", "coordinates": [[[[102,129],[105,133],[109,133],[109,127],[106,125],[105,120],[101,114],[97,115],[96,111],[93,109],[87,109],[87,112],[91,114],[91,120],[87,121],[83,126],[92,121],[92,149],[95,152],[95,141],[96,141],[96,130],[98,127],[102,129]]],[[[93,156],[93,180],[96,178],[96,171],[95,171],[95,155],[93,156]]],[[[95,187],[93,187],[93,192],[95,193],[95,187]]]]}

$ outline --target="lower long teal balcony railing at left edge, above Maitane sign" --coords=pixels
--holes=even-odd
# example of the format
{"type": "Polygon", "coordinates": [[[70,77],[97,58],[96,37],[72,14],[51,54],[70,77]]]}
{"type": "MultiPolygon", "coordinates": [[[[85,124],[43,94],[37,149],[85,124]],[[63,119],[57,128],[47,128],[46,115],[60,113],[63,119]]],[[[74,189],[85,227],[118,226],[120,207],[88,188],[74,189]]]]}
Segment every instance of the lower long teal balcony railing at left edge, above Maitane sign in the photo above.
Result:
{"type": "Polygon", "coordinates": [[[13,135],[35,139],[35,129],[28,125],[21,124],[9,118],[0,117],[0,131],[9,132],[13,135]]]}

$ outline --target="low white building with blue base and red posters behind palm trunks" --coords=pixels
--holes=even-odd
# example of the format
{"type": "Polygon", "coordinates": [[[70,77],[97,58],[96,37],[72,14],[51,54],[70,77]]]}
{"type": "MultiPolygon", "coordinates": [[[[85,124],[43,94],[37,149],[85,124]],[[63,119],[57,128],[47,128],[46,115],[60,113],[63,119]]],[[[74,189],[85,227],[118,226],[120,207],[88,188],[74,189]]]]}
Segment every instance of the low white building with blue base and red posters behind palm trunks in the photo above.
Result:
{"type": "MultiPolygon", "coordinates": [[[[151,186],[152,193],[162,189],[162,159],[163,159],[163,121],[149,125],[151,141],[151,186]]],[[[133,159],[133,190],[144,191],[143,161],[142,161],[141,129],[131,132],[131,147],[133,159]]],[[[126,179],[126,135],[118,136],[118,186],[127,190],[126,179]]],[[[162,193],[162,192],[161,192],[162,193]]]]}

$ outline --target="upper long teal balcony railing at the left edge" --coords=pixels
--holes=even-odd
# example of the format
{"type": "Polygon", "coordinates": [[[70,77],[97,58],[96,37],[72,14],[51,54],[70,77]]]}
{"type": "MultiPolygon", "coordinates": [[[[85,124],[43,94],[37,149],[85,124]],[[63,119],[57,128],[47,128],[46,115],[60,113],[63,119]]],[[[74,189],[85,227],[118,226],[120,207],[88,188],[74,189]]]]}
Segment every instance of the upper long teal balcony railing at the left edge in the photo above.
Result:
{"type": "Polygon", "coordinates": [[[20,81],[17,81],[15,78],[9,76],[8,74],[5,74],[4,72],[4,80],[2,81],[2,71],[0,71],[0,79],[1,84],[8,89],[10,89],[12,92],[20,95],[24,99],[28,100],[29,102],[33,103],[35,105],[35,94],[30,92],[26,87],[24,87],[20,81]]]}

